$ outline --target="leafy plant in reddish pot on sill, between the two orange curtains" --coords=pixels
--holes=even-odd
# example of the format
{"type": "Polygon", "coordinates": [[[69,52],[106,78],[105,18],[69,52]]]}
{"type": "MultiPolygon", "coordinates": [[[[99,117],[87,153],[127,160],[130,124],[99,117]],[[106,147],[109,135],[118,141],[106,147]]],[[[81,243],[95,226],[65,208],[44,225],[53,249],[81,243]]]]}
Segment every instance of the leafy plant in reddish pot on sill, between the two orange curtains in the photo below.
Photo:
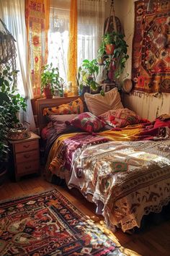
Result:
{"type": "Polygon", "coordinates": [[[63,95],[63,78],[60,77],[58,67],[53,67],[51,63],[42,66],[41,93],[44,93],[46,98],[52,98],[55,90],[63,95]]]}

